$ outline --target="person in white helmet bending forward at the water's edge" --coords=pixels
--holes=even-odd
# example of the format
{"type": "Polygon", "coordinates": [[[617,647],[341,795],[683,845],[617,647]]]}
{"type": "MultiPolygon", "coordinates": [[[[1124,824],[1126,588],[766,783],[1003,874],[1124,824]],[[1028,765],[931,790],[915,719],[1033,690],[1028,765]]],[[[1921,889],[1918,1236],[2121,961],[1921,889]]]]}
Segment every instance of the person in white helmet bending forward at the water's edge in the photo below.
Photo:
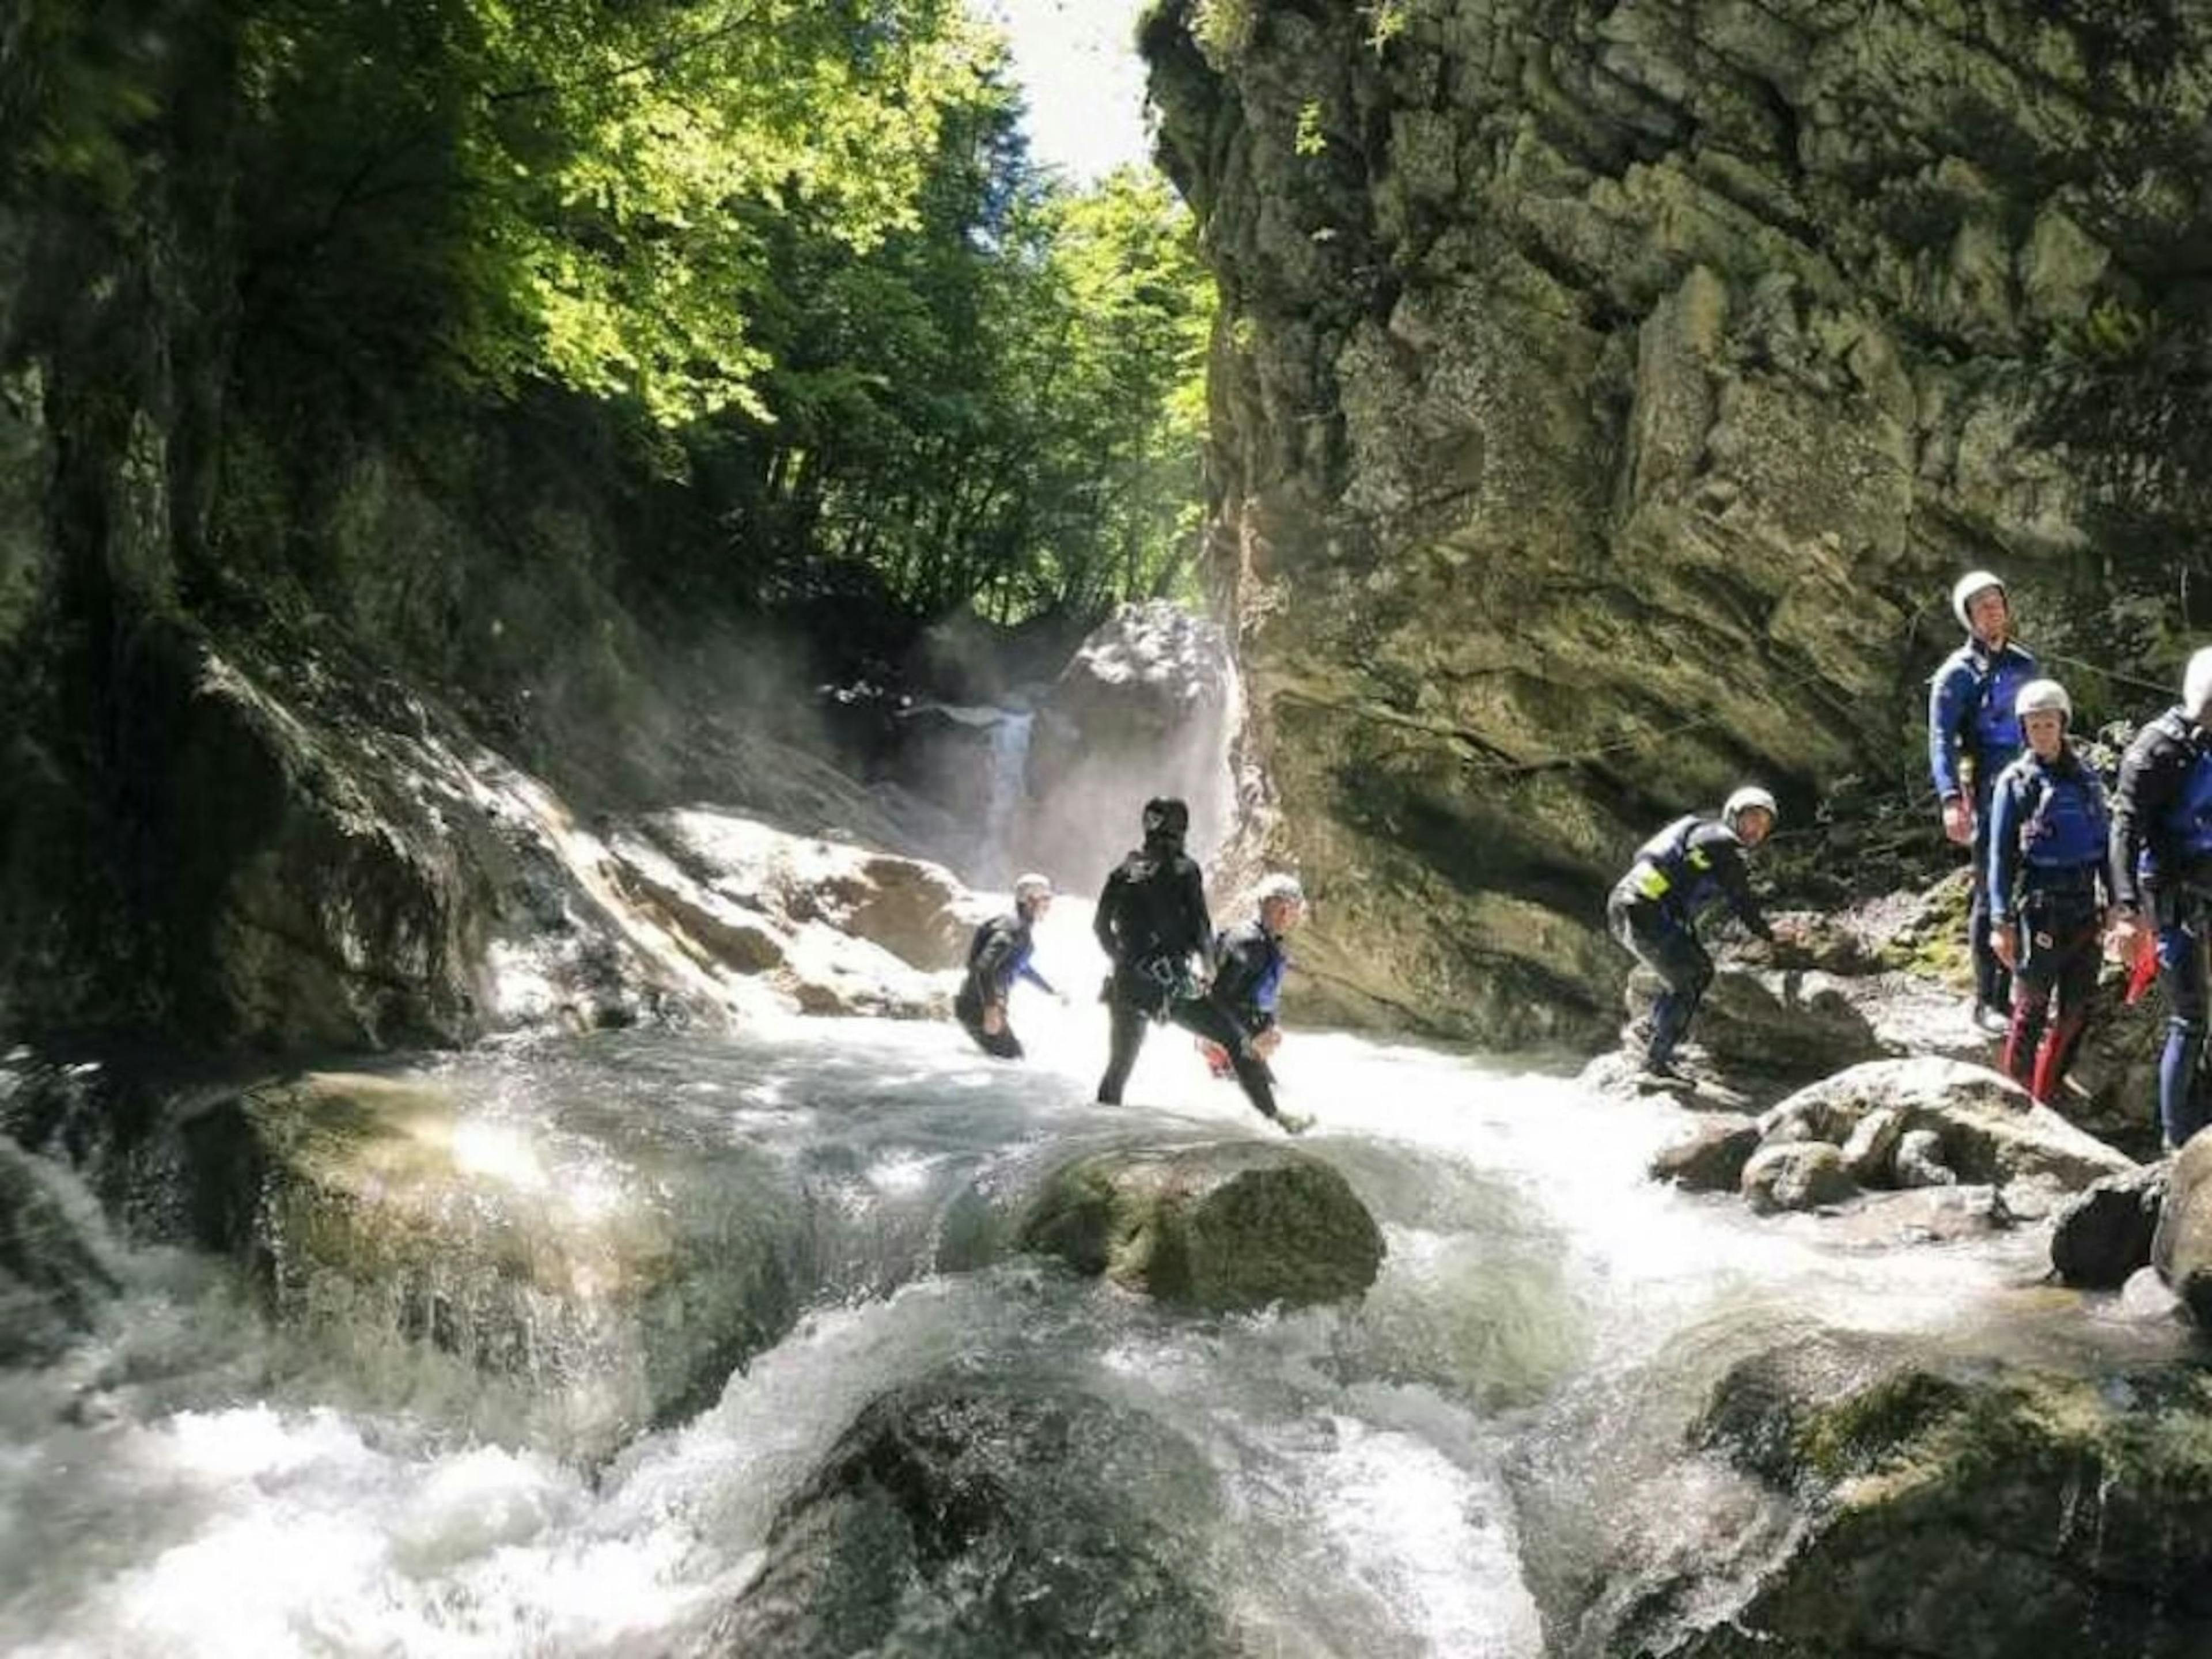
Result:
{"type": "Polygon", "coordinates": [[[1637,860],[1606,900],[1613,938],[1666,987],[1652,1004],[1646,1077],[1683,1082],[1674,1046],[1712,984],[1712,958],[1697,940],[1699,920],[1728,905],[1759,938],[1774,940],[1743,869],[1745,849],[1774,832],[1774,796],[1750,785],[1728,796],[1719,818],[1677,818],[1637,847],[1637,860]]]}

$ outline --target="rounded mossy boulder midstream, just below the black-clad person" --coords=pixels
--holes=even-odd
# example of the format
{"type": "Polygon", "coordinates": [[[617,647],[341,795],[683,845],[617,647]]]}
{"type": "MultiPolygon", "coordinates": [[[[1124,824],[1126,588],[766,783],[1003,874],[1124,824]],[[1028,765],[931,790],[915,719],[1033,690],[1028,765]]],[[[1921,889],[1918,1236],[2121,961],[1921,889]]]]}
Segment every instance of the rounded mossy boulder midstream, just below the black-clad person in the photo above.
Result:
{"type": "Polygon", "coordinates": [[[1046,1181],[1022,1245],[1206,1312],[1343,1301],[1383,1265],[1352,1183],[1272,1141],[1077,1159],[1046,1181]]]}

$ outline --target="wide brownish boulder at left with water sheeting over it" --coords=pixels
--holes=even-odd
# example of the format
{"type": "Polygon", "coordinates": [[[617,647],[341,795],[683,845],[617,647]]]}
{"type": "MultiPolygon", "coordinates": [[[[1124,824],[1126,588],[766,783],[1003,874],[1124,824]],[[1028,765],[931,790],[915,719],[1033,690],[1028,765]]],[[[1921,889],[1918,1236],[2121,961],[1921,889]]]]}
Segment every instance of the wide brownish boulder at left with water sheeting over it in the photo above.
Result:
{"type": "Polygon", "coordinates": [[[305,1073],[184,1115],[181,1219],[363,1376],[445,1354],[493,1402],[487,1431],[606,1455],[790,1329],[812,1234],[763,1152],[602,1133],[431,1077],[305,1073]]]}

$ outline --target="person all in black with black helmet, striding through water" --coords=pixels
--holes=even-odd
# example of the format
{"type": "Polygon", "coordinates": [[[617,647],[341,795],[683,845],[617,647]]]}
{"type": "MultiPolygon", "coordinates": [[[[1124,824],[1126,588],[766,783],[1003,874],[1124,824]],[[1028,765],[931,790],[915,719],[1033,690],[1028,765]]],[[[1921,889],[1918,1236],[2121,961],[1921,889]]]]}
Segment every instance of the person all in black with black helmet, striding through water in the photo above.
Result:
{"type": "Polygon", "coordinates": [[[1245,1099],[1263,1115],[1298,1133],[1303,1119],[1283,1119],[1274,1106],[1274,1079],[1252,1040],[1208,995],[1190,971],[1197,956],[1206,978],[1214,971],[1214,925],[1206,914],[1206,878],[1183,854],[1190,807],[1175,799],[1144,803],[1144,845],[1128,854],[1099,891],[1093,929],[1113,960],[1106,1009],[1113,1020],[1099,1104],[1119,1106],[1121,1088],[1144,1048],[1152,1020],[1175,1020],[1186,1031],[1221,1044],[1237,1071],[1245,1099]]]}

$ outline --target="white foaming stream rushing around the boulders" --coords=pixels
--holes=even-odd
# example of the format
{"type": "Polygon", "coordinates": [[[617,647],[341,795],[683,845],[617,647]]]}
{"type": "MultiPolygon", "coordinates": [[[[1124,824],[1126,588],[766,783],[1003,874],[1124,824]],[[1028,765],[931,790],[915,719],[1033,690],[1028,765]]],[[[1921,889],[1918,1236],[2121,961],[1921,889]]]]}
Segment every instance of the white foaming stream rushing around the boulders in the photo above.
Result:
{"type": "Polygon", "coordinates": [[[2028,1237],[1845,1248],[1646,1183],[1670,1104],[1340,1035],[1294,1033],[1279,1071],[1318,1117],[1303,1144],[1385,1228],[1360,1307],[1190,1318],[1018,1256],[1006,1217],[1071,1150],[1274,1133],[1175,1031],[1139,1064],[1144,1104],[1088,1104],[1084,920],[1055,914],[1040,949],[1073,1006],[1015,998],[1026,1066],[951,1026],[794,1022],[409,1068],[467,1102],[460,1161],[549,1234],[653,1217],[787,1303],[664,1427],[604,1436],[619,1365],[551,1354],[487,1380],[343,1303],[272,1332],[228,1265],[97,1234],[124,1290],[93,1336],[0,1371],[0,1650],[690,1652],[854,1416],[953,1371],[1110,1400],[1194,1449],[1197,1482],[1141,1449],[1115,1478],[1194,1540],[1225,1650],[1540,1655],[1537,1586],[1593,1571],[1621,1517],[1686,1548],[1743,1524],[1741,1495],[1661,1473],[1730,1356],[1807,1321],[2044,1354],[2148,1340],[2028,1290],[2028,1237]]]}

